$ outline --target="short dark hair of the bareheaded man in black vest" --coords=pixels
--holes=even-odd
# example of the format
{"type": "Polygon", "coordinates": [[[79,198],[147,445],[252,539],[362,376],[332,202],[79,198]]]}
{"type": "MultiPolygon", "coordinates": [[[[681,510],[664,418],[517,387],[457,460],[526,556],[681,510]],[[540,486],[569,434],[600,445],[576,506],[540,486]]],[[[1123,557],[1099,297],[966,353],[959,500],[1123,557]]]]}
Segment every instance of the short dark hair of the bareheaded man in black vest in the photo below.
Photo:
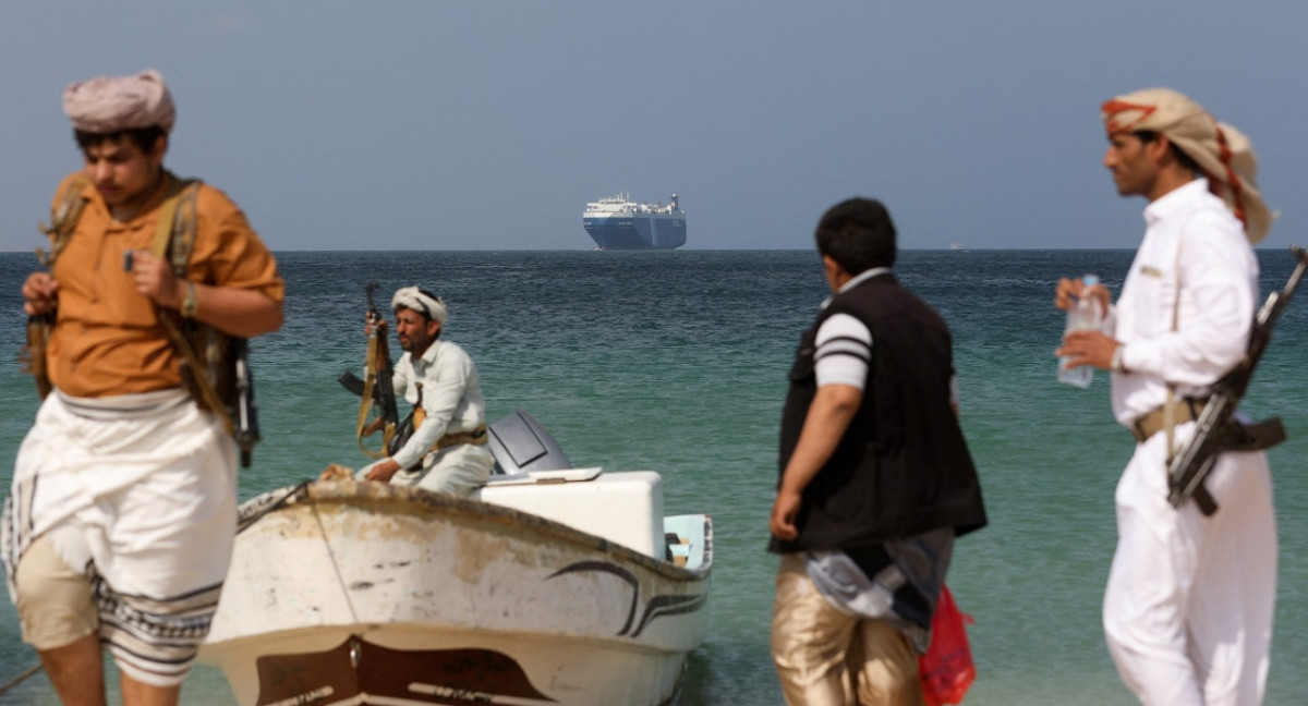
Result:
{"type": "Polygon", "coordinates": [[[895,222],[880,201],[841,201],[818,221],[818,252],[829,255],[850,275],[895,264],[895,222]]]}

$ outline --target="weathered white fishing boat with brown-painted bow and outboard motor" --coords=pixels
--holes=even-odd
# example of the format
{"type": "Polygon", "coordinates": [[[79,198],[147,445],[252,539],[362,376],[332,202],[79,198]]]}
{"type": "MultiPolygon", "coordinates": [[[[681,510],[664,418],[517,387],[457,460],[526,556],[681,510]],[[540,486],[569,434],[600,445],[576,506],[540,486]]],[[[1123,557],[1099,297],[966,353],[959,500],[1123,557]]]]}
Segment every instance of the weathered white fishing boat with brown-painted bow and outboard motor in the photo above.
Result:
{"type": "Polygon", "coordinates": [[[242,506],[200,652],[239,705],[674,698],[712,520],[664,518],[658,473],[569,468],[526,413],[490,431],[508,473],[477,498],[343,480],[242,506]]]}

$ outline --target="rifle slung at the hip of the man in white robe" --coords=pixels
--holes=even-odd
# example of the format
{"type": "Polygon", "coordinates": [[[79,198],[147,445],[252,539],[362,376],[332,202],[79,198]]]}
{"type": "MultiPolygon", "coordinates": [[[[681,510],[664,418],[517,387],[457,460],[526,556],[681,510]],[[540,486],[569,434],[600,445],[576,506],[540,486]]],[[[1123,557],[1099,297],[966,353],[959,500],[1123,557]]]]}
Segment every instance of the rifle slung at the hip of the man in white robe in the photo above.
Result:
{"type": "Polygon", "coordinates": [[[1203,488],[1203,480],[1213,471],[1218,455],[1223,451],[1270,448],[1286,441],[1286,429],[1279,417],[1245,425],[1232,416],[1249,387],[1253,369],[1258,366],[1262,353],[1267,349],[1271,329],[1275,328],[1277,320],[1290,306],[1299,280],[1303,278],[1304,269],[1308,269],[1308,252],[1300,247],[1292,247],[1290,252],[1299,260],[1295,271],[1290,275],[1290,281],[1281,292],[1267,294],[1267,301],[1254,316],[1253,331],[1249,333],[1249,348],[1244,360],[1213,386],[1213,396],[1203,412],[1199,413],[1194,434],[1168,464],[1167,499],[1173,507],[1180,507],[1193,497],[1205,515],[1216,513],[1218,505],[1203,488]]]}

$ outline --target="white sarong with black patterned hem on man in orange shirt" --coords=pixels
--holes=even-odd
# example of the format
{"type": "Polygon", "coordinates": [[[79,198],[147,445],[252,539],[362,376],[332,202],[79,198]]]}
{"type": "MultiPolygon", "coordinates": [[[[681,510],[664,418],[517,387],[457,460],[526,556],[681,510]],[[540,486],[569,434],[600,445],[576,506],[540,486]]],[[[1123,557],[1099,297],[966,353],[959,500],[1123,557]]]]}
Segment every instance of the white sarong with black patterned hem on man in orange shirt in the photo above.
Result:
{"type": "Polygon", "coordinates": [[[230,439],[186,392],[52,394],[18,450],[0,527],[10,596],[22,553],[47,536],[86,570],[119,668],[177,684],[217,608],[235,490],[230,439]]]}

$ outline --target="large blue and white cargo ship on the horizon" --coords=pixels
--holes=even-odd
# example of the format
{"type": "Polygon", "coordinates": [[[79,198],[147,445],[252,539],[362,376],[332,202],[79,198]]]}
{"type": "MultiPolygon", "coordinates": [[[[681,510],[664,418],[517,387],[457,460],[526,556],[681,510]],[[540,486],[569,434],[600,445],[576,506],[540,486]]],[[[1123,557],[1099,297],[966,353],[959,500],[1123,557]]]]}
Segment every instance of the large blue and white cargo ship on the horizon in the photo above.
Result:
{"type": "Polygon", "coordinates": [[[586,204],[581,218],[598,250],[674,250],[685,244],[685,212],[678,203],[638,204],[625,191],[586,204]]]}

